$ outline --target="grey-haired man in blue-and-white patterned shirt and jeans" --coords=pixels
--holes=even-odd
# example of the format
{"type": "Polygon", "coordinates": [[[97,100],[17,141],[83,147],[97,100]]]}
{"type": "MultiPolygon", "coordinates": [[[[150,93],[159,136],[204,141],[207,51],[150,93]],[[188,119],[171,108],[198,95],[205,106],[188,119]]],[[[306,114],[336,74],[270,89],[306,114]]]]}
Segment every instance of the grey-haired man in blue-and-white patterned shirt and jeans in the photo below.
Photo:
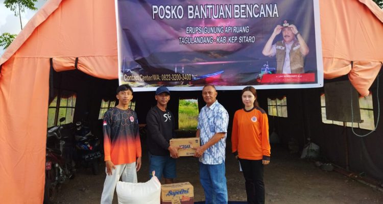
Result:
{"type": "Polygon", "coordinates": [[[205,193],[205,203],[227,203],[225,177],[225,148],[229,114],[218,103],[216,87],[205,85],[202,89],[206,103],[198,116],[197,134],[201,146],[195,157],[200,161],[200,182],[205,193]]]}

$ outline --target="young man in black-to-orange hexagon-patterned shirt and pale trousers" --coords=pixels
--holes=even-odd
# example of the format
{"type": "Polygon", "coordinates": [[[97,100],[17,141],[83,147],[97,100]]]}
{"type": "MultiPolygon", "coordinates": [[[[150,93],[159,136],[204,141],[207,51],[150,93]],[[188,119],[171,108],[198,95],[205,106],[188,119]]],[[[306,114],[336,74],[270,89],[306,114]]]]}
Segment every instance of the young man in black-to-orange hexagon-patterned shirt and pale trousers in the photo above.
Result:
{"type": "Polygon", "coordinates": [[[106,179],[101,204],[112,203],[120,176],[123,182],[137,183],[136,171],[141,168],[137,114],[129,108],[133,89],[121,85],[116,97],[118,105],[105,112],[103,121],[106,179]]]}

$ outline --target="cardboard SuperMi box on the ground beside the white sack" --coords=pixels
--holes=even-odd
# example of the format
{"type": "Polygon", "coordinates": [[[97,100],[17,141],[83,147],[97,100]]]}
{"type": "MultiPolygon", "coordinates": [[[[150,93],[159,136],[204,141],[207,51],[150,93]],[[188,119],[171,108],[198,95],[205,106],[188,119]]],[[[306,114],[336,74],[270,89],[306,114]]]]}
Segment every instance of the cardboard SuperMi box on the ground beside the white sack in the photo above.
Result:
{"type": "Polygon", "coordinates": [[[161,185],[161,204],[194,204],[194,188],[189,182],[161,185]]]}

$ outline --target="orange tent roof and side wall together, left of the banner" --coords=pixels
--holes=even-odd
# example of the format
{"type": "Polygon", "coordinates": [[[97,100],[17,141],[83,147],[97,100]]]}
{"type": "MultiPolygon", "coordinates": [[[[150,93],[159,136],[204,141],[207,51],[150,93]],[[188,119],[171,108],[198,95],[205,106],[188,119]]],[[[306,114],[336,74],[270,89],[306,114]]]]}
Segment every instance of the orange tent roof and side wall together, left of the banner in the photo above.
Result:
{"type": "Polygon", "coordinates": [[[47,2],[0,58],[0,200],[42,203],[50,58],[117,78],[114,1],[47,2]]]}

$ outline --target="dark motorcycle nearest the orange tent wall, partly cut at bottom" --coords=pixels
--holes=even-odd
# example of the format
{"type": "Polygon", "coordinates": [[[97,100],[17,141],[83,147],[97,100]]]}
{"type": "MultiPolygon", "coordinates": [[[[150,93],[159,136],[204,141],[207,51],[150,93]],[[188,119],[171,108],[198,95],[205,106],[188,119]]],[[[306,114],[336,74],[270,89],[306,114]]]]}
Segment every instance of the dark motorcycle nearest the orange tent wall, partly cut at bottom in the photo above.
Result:
{"type": "MultiPolygon", "coordinates": [[[[45,155],[45,188],[44,203],[51,204],[57,199],[57,192],[61,185],[74,179],[76,174],[73,161],[73,135],[67,134],[70,127],[64,128],[60,118],[60,125],[47,131],[46,155],[45,155]],[[62,134],[62,132],[66,132],[62,134]]],[[[69,124],[70,125],[70,124],[69,124]]]]}

